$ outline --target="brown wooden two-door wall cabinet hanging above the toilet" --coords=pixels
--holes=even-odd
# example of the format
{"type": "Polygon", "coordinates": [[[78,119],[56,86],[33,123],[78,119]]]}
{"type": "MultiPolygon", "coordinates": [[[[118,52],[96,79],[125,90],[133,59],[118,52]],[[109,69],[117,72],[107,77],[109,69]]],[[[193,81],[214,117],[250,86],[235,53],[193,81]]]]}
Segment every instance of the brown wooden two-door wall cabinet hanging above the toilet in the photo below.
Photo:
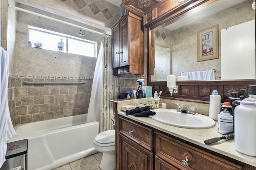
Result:
{"type": "MultiPolygon", "coordinates": [[[[144,33],[141,18],[128,12],[112,28],[112,67],[115,76],[120,68],[130,74],[144,74],[144,33]]],[[[127,74],[127,73],[126,73],[127,74]]]]}

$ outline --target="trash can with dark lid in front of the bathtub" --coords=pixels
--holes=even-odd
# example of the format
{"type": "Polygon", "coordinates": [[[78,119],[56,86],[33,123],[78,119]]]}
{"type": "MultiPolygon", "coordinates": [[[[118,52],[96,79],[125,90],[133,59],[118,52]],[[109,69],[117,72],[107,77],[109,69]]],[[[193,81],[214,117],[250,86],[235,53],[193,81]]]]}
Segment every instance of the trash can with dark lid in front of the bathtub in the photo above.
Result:
{"type": "Polygon", "coordinates": [[[27,170],[28,140],[7,143],[7,151],[0,170],[27,170]]]}

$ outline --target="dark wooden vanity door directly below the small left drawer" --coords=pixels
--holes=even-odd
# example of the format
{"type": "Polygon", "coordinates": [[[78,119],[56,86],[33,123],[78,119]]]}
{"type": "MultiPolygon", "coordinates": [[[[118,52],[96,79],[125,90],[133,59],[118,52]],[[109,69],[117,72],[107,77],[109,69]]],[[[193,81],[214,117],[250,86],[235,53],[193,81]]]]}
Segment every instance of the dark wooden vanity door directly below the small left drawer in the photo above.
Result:
{"type": "Polygon", "coordinates": [[[122,136],[122,170],[153,170],[153,155],[122,136]]]}

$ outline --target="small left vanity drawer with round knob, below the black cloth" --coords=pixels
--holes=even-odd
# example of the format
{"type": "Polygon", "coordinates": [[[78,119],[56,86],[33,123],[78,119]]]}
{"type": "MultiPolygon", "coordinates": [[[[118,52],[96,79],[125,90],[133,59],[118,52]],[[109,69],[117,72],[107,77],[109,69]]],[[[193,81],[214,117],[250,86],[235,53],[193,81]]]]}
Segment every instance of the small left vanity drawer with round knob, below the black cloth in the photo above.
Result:
{"type": "Polygon", "coordinates": [[[119,133],[140,146],[153,150],[153,130],[138,123],[119,117],[119,133]]]}

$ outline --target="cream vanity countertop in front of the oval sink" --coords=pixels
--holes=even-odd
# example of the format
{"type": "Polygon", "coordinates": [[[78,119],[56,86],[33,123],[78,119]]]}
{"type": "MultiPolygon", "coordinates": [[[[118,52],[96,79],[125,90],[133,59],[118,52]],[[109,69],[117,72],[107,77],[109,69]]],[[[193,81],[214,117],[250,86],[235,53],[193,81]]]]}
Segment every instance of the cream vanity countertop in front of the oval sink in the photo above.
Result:
{"type": "Polygon", "coordinates": [[[126,116],[124,111],[118,111],[118,114],[124,117],[128,117],[132,120],[138,121],[140,123],[143,123],[145,125],[148,125],[150,127],[153,127],[154,129],[158,129],[160,131],[163,131],[165,133],[168,133],[170,135],[183,139],[185,141],[188,141],[190,143],[194,143],[200,147],[212,150],[224,156],[228,156],[235,160],[239,160],[240,162],[244,162],[246,164],[256,167],[256,156],[248,156],[246,154],[242,154],[236,151],[234,140],[230,140],[230,141],[220,140],[210,145],[204,144],[204,141],[206,139],[222,136],[220,133],[218,133],[217,122],[215,127],[212,127],[210,129],[186,129],[186,128],[165,125],[163,123],[154,121],[150,117],[134,117],[133,115],[126,116]]]}

